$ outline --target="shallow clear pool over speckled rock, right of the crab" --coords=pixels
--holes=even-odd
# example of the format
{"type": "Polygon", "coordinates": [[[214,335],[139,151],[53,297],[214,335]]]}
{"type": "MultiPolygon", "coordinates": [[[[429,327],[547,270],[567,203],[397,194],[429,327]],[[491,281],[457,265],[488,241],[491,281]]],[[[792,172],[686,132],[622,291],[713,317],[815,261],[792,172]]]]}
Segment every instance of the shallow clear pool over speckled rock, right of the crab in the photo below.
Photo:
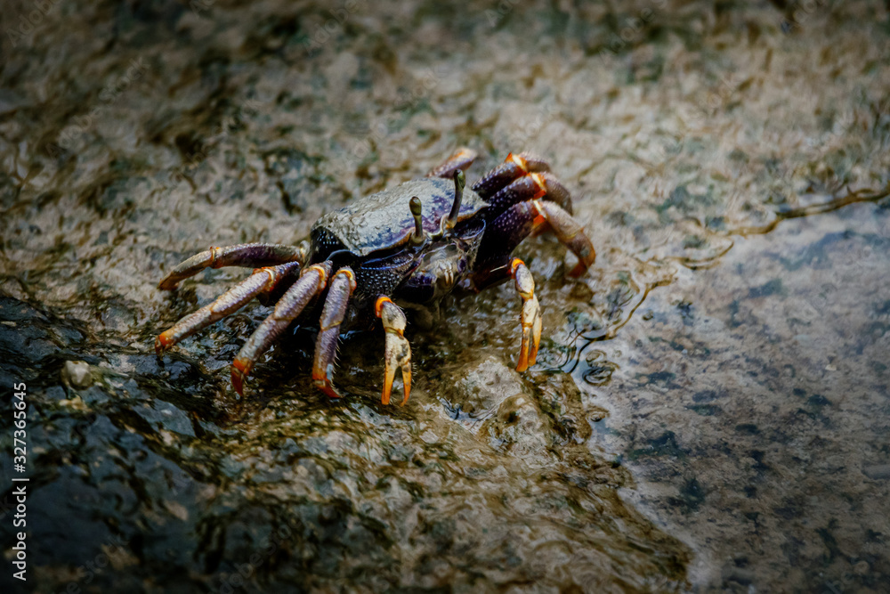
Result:
{"type": "Polygon", "coordinates": [[[629,499],[698,543],[694,581],[886,590],[888,230],[890,210],[857,205],[744,240],[612,341],[635,364],[604,443],[629,499]]]}

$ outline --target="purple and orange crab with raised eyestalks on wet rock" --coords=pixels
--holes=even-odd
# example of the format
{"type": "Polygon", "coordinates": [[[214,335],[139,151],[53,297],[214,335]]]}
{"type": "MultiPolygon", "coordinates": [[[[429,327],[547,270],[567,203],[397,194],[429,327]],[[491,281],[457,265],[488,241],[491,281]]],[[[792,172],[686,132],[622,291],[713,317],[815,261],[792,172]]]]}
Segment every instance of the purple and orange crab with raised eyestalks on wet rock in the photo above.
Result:
{"type": "Polygon", "coordinates": [[[396,370],[401,369],[404,405],[411,391],[411,347],[403,308],[437,305],[458,286],[478,292],[512,279],[522,298],[516,370],[528,369],[538,354],[541,308],[535,281],[526,264],[512,256],[514,248],[530,234],[549,229],[578,256],[570,273],[578,276],[594,263],[594,246],[572,218],[570,193],[546,161],[510,153],[466,188],[464,172],[475,158],[474,151],[460,149],[425,178],[329,212],[312,226],[310,240],[297,246],[211,247],[185,260],[160,281],[159,289],[176,289],[205,268],[255,270],[161,333],[155,341],[158,356],[257,297],[274,309],[231,364],[235,390],[244,394],[255,363],[295,321],[318,320],[312,381],[336,398],[340,394],[333,376],[340,335],[367,330],[379,318],[385,332],[382,403],[389,403],[396,370]]]}

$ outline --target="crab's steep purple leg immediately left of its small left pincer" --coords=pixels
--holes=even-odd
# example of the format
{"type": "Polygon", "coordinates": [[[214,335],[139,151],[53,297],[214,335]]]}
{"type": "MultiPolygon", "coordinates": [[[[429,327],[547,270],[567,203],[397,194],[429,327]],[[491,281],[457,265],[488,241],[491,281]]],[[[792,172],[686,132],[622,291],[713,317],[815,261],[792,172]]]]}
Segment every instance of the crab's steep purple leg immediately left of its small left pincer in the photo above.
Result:
{"type": "Polygon", "coordinates": [[[333,383],[336,342],[340,338],[340,324],[346,315],[349,297],[352,296],[355,287],[355,273],[352,273],[352,268],[349,266],[344,266],[331,279],[325,307],[321,310],[319,338],[315,341],[315,362],[312,364],[312,381],[315,387],[331,398],[340,397],[333,383]]]}

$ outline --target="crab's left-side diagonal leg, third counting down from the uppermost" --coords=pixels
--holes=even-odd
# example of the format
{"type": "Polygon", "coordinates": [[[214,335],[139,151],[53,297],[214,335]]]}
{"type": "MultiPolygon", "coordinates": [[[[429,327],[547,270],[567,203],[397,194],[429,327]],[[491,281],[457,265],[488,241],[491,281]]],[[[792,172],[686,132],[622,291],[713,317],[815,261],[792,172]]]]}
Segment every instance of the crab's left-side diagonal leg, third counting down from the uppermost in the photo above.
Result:
{"type": "Polygon", "coordinates": [[[244,380],[254,368],[260,356],[269,350],[272,342],[281,332],[287,330],[290,322],[303,313],[306,305],[325,289],[331,265],[328,262],[306,268],[294,285],[287,289],[271,315],[247,338],[235,361],[231,362],[231,385],[239,395],[244,395],[244,380]]]}

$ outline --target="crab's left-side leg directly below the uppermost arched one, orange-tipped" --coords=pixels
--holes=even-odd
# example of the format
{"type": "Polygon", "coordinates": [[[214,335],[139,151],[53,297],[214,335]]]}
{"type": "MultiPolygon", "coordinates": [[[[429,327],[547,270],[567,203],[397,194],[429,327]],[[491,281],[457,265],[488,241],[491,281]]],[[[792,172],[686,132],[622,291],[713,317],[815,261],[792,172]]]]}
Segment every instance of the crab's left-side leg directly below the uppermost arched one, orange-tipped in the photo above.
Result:
{"type": "Polygon", "coordinates": [[[230,313],[238,311],[263,290],[274,289],[282,279],[294,270],[298,270],[299,267],[299,262],[291,262],[257,269],[255,273],[223,293],[212,304],[205,305],[195,313],[190,313],[182,320],[177,321],[172,328],[162,332],[155,339],[155,352],[158,355],[163,354],[166,349],[174,346],[183,338],[188,338],[214,321],[222,320],[230,313]]]}

